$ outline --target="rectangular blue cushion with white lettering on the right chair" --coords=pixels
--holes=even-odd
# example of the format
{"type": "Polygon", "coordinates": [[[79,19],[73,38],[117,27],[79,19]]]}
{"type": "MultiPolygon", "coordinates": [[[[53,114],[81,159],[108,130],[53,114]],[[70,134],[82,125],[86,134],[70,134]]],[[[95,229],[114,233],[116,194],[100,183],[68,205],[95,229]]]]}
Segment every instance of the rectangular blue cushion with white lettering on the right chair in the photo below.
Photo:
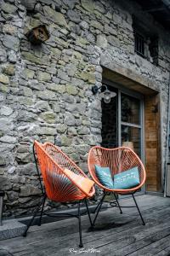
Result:
{"type": "Polygon", "coordinates": [[[138,186],[139,170],[138,167],[133,167],[125,172],[120,172],[114,175],[114,189],[131,189],[138,186]]]}

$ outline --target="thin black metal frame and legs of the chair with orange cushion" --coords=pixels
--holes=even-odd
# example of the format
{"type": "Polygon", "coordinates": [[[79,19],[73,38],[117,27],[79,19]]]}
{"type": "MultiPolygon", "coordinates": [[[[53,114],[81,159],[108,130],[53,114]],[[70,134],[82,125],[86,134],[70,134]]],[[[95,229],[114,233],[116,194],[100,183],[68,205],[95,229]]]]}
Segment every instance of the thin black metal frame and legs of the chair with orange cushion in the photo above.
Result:
{"type": "MultiPolygon", "coordinates": [[[[88,202],[87,202],[87,198],[84,198],[82,200],[79,200],[77,201],[77,214],[71,214],[71,213],[45,213],[43,212],[44,210],[44,205],[45,205],[45,201],[47,200],[48,196],[46,194],[46,191],[45,191],[45,188],[43,188],[43,185],[42,185],[42,179],[41,179],[41,174],[39,172],[39,167],[38,167],[38,164],[37,164],[37,157],[36,157],[36,151],[35,151],[35,143],[37,143],[37,141],[34,142],[33,144],[33,155],[34,155],[34,160],[35,160],[35,163],[36,163],[36,168],[37,168],[37,176],[38,176],[38,179],[39,179],[39,183],[40,183],[40,188],[42,190],[42,199],[40,201],[40,203],[38,204],[36,210],[34,211],[33,215],[32,215],[32,218],[30,220],[30,222],[27,224],[27,227],[26,227],[26,230],[23,234],[24,237],[27,236],[27,231],[29,230],[29,228],[31,227],[31,224],[33,223],[34,219],[37,217],[37,213],[41,210],[40,212],[40,215],[39,215],[39,220],[38,220],[38,225],[41,226],[42,224],[42,215],[45,214],[45,215],[48,215],[49,217],[59,217],[59,218],[63,218],[63,217],[75,217],[75,218],[78,218],[78,226],[79,226],[79,247],[83,247],[83,244],[82,244],[82,224],[81,224],[81,216],[82,214],[85,214],[88,212],[88,218],[89,218],[89,221],[90,221],[90,224],[91,226],[93,225],[92,223],[92,219],[90,217],[90,212],[89,212],[89,208],[88,208],[88,202]],[[82,212],[81,213],[81,203],[82,202],[85,202],[85,206],[86,206],[86,211],[82,212]]],[[[39,143],[40,144],[40,143],[39,143]]],[[[44,143],[43,145],[45,146],[47,143],[44,143]]],[[[49,143],[48,143],[49,144],[49,143]]],[[[56,147],[56,146],[55,146],[56,147]]],[[[43,149],[43,148],[42,148],[43,149]]],[[[44,149],[43,149],[44,150],[44,149]]],[[[61,150],[60,152],[62,154],[64,154],[61,150]]],[[[46,152],[46,154],[48,154],[46,152]]],[[[50,156],[49,156],[50,157],[50,156]]],[[[67,157],[67,159],[69,159],[67,157]]],[[[76,166],[79,170],[81,170],[71,159],[69,159],[71,161],[71,163],[76,166]]],[[[82,171],[82,170],[81,170],[82,171]]],[[[93,192],[91,194],[94,195],[94,192],[95,192],[95,189],[93,187],[93,192]]],[[[86,195],[87,196],[87,195],[86,195]]]]}

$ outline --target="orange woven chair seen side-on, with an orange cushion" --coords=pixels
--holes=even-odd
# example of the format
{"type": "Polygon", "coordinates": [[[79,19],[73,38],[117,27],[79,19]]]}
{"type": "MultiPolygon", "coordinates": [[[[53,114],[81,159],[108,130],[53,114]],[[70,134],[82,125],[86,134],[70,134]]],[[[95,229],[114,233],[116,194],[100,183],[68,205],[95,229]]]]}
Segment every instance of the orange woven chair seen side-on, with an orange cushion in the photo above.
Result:
{"type": "MultiPolygon", "coordinates": [[[[33,146],[33,153],[37,165],[37,174],[39,177],[42,189],[42,201],[38,205],[30,223],[27,225],[26,231],[23,236],[26,236],[29,227],[31,226],[37,212],[40,211],[39,225],[42,222],[42,213],[46,199],[56,202],[71,202],[78,201],[77,215],[66,214],[68,217],[77,217],[79,222],[79,236],[80,244],[82,247],[82,225],[81,225],[81,201],[85,201],[88,212],[90,224],[92,220],[88,210],[87,199],[92,197],[95,193],[94,181],[90,180],[84,172],[58,147],[51,143],[38,143],[35,141],[33,146]],[[39,172],[42,173],[42,179],[39,172]],[[42,185],[44,184],[44,189],[42,185]]],[[[85,213],[85,212],[83,212],[85,213]]],[[[56,213],[57,214],[57,213],[56,213]]],[[[55,215],[56,215],[55,214],[55,215]]],[[[55,216],[48,214],[48,216],[55,216]]],[[[57,216],[62,216],[61,214],[57,216]]]]}

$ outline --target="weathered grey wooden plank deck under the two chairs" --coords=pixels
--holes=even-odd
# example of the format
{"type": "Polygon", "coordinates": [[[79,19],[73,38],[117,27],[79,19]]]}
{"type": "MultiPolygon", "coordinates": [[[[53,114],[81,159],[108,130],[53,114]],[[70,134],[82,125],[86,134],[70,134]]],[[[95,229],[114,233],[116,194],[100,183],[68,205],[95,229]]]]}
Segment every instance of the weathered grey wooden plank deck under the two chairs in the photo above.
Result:
{"type": "MultiPolygon", "coordinates": [[[[0,241],[0,256],[170,255],[170,198],[139,195],[136,199],[145,226],[136,208],[124,208],[123,214],[118,208],[100,212],[93,232],[88,231],[88,217],[82,217],[83,250],[87,252],[81,253],[77,247],[77,218],[70,218],[32,226],[26,238],[0,241]]],[[[122,199],[120,203],[133,205],[132,199],[122,199]]]]}

